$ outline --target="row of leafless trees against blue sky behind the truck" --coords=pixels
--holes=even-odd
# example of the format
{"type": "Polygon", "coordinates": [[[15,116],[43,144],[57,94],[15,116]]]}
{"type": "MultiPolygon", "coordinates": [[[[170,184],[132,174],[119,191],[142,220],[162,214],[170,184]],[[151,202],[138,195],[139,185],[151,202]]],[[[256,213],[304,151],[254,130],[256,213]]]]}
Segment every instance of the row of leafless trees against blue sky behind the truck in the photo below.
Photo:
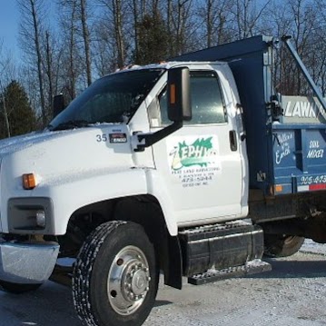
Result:
{"type": "MultiPolygon", "coordinates": [[[[43,128],[55,94],[70,102],[117,68],[253,35],[291,35],[326,94],[326,0],[15,1],[22,61],[0,40],[0,138],[43,128]]],[[[282,94],[307,92],[283,49],[274,86],[282,94]]]]}

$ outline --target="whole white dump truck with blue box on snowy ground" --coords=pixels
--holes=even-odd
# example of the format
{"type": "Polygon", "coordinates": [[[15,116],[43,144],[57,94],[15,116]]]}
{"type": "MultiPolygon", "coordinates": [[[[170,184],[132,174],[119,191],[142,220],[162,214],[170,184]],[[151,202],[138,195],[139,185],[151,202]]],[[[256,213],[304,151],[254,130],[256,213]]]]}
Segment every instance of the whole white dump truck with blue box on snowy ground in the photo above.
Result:
{"type": "Polygon", "coordinates": [[[44,131],[1,141],[2,289],[72,285],[85,325],[136,326],[160,273],[181,289],[326,242],[325,105],[299,58],[315,97],[274,93],[277,44],[109,74],[44,131]]]}

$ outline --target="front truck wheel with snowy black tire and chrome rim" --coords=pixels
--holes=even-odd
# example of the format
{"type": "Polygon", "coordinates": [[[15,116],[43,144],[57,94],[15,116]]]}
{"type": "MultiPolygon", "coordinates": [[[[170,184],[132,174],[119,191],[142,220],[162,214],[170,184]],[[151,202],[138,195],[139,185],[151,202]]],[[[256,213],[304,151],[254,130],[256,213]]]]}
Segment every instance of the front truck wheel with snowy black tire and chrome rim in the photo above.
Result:
{"type": "Polygon", "coordinates": [[[74,307],[87,326],[142,325],[153,308],[159,270],[153,243],[134,222],[98,226],[73,272],[74,307]]]}

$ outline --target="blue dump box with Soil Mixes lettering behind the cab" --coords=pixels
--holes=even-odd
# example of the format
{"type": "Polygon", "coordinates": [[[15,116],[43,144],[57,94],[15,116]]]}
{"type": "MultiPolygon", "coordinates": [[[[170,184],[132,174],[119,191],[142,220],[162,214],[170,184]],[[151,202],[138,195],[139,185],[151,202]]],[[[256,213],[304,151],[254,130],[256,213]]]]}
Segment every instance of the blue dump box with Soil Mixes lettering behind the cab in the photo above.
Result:
{"type": "Polygon", "coordinates": [[[274,94],[273,41],[259,35],[173,60],[229,63],[243,108],[251,189],[326,190],[326,113],[313,98],[274,94]]]}

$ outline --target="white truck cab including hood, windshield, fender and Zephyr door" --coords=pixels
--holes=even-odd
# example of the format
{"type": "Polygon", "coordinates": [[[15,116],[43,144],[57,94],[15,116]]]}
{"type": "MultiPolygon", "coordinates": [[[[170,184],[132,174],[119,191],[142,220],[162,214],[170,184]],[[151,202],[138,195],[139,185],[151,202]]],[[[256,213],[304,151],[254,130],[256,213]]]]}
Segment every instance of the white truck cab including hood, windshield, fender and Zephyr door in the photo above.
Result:
{"type": "MultiPolygon", "coordinates": [[[[8,184],[3,189],[3,216],[7,208],[19,206],[6,204],[15,197],[48,196],[59,217],[51,214],[53,221],[46,221],[45,229],[64,234],[81,202],[146,193],[161,203],[171,235],[181,226],[244,217],[248,213],[248,160],[245,140],[240,137],[239,102],[230,68],[222,63],[161,64],[106,76],[42,133],[3,142],[2,170],[7,171],[3,178],[8,184]],[[176,67],[190,71],[193,118],[153,147],[139,151],[140,134],[156,133],[172,123],[167,116],[166,80],[168,70],[176,67]],[[123,173],[125,177],[111,181],[123,173]],[[35,187],[25,189],[25,174],[34,175],[35,187]],[[131,174],[137,180],[134,184],[131,174]],[[105,186],[113,183],[114,187],[105,186]],[[78,198],[79,194],[64,204],[66,196],[72,197],[77,189],[84,189],[87,199],[78,198]]],[[[1,225],[3,232],[44,231],[36,224],[33,230],[31,223],[17,216],[4,218],[1,225]]]]}

